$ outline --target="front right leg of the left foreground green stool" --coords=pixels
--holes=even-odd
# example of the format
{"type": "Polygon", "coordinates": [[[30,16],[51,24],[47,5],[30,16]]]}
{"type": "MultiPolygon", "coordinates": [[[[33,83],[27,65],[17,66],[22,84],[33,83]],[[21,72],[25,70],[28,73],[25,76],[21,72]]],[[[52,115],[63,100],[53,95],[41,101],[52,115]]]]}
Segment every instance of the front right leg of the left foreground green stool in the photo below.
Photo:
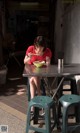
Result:
{"type": "Polygon", "coordinates": [[[51,133],[50,109],[48,107],[45,108],[45,126],[46,126],[45,133],[51,133]]]}

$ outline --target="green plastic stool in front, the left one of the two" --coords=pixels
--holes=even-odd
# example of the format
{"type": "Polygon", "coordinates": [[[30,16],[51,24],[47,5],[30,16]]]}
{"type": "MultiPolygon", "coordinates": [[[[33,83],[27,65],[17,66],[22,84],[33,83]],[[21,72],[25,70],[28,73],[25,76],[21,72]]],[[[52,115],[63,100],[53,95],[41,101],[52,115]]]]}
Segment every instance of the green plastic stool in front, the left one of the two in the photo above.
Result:
{"type": "MultiPolygon", "coordinates": [[[[35,111],[34,111],[35,112],[35,111]]],[[[36,114],[36,117],[37,114],[36,114]]],[[[38,117],[39,118],[39,117],[38,117]]],[[[56,124],[56,108],[55,108],[55,102],[51,97],[48,96],[35,96],[28,105],[28,111],[27,111],[27,126],[26,126],[26,133],[29,132],[29,130],[34,130],[41,133],[51,133],[54,126],[56,124]],[[45,128],[40,127],[34,127],[34,125],[31,124],[31,107],[37,108],[37,109],[44,109],[44,121],[45,121],[45,128]],[[52,109],[52,116],[54,121],[51,121],[51,113],[50,109],[52,109]]]]}

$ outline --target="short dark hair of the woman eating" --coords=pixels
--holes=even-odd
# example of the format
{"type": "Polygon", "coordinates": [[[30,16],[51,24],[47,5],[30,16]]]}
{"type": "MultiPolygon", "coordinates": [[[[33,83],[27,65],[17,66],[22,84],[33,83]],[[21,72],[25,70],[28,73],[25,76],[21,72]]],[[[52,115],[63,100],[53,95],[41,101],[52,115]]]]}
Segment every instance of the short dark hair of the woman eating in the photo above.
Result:
{"type": "Polygon", "coordinates": [[[47,43],[46,43],[45,37],[37,36],[34,39],[34,46],[36,46],[36,47],[42,46],[42,47],[44,47],[44,49],[46,49],[47,43]]]}

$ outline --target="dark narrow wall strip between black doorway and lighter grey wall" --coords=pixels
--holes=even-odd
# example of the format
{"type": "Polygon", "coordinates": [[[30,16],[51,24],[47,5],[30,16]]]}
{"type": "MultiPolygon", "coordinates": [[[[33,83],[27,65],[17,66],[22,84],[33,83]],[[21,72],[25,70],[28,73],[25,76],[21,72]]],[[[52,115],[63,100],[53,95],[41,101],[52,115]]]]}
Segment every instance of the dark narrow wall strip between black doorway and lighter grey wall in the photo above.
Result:
{"type": "Polygon", "coordinates": [[[55,62],[57,62],[57,55],[59,51],[62,51],[62,23],[63,23],[63,4],[60,0],[57,0],[56,7],[56,20],[55,20],[55,31],[54,31],[54,44],[55,44],[55,62]]]}

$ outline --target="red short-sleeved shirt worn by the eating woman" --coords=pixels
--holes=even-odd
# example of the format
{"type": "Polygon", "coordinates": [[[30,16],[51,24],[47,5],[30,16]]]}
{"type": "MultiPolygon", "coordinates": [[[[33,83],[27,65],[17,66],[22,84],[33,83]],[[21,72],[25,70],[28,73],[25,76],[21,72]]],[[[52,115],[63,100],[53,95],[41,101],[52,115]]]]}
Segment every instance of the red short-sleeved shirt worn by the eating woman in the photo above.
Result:
{"type": "MultiPolygon", "coordinates": [[[[26,51],[26,55],[28,55],[28,53],[36,54],[34,45],[28,47],[28,49],[26,51]]],[[[28,63],[29,64],[33,64],[34,61],[46,61],[46,57],[47,56],[49,58],[52,57],[52,52],[51,52],[51,50],[49,48],[45,49],[43,55],[33,55],[28,63]]]]}

